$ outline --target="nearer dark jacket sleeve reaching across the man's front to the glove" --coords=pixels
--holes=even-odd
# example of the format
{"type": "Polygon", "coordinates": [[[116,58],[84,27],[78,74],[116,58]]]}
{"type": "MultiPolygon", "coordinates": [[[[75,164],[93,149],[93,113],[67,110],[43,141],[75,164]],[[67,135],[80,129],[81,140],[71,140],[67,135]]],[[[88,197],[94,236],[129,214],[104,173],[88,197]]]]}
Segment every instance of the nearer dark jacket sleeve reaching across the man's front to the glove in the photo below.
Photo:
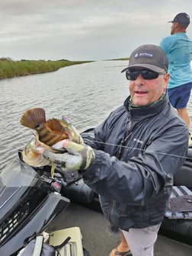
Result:
{"type": "MultiPolygon", "coordinates": [[[[166,130],[166,127],[165,127],[166,130]]],[[[175,126],[146,145],[127,162],[95,149],[94,163],[84,173],[86,184],[103,197],[145,206],[152,197],[173,184],[173,174],[184,163],[187,129],[175,126]]]]}

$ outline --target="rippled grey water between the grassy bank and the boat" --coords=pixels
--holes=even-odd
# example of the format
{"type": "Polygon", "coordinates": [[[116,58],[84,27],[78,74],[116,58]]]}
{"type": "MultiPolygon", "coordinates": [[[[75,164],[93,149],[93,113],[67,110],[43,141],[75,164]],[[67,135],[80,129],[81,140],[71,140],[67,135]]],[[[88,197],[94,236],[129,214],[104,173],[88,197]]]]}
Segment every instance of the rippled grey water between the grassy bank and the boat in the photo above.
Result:
{"type": "MultiPolygon", "coordinates": [[[[25,110],[43,107],[46,118],[66,115],[79,132],[95,126],[129,94],[126,61],[91,62],[42,75],[0,80],[0,170],[31,138],[21,126],[25,110]]],[[[188,104],[192,120],[192,103],[188,104]]]]}

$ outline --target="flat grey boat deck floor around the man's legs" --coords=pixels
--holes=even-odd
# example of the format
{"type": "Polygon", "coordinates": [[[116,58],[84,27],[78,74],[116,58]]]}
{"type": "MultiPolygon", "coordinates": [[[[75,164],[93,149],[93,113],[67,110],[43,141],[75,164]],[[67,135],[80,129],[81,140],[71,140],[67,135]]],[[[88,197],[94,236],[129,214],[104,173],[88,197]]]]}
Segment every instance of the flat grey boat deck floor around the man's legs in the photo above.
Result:
{"type": "MultiPolygon", "coordinates": [[[[120,242],[120,232],[112,232],[102,213],[71,203],[60,214],[48,231],[78,226],[82,232],[82,244],[90,256],[108,256],[120,242]]],[[[191,256],[192,246],[158,235],[155,256],[191,256]]]]}

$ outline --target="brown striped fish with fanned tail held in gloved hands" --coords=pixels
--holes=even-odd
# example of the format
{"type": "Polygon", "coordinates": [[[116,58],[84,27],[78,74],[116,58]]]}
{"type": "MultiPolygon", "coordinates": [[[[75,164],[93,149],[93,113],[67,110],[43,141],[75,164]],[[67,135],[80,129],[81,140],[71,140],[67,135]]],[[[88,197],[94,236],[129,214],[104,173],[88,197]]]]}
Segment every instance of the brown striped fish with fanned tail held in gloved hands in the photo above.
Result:
{"type": "Polygon", "coordinates": [[[56,163],[48,161],[43,157],[44,150],[55,153],[66,152],[66,149],[56,149],[54,145],[63,139],[70,139],[82,143],[82,137],[66,117],[46,120],[45,110],[37,107],[27,110],[21,117],[21,124],[30,129],[36,130],[37,134],[21,152],[24,162],[34,167],[51,165],[53,174],[56,163]]]}

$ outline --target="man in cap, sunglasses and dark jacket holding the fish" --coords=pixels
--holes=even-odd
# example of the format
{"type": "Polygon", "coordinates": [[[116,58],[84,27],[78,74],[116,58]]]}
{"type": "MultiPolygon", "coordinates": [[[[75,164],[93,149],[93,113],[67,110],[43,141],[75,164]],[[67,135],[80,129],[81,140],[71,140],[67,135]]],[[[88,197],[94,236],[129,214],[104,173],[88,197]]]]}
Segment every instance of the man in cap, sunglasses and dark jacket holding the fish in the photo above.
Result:
{"type": "Polygon", "coordinates": [[[130,95],[94,135],[82,134],[82,143],[69,138],[52,146],[67,152],[41,153],[63,171],[81,171],[99,194],[104,216],[130,246],[117,247],[110,256],[152,256],[174,173],[187,153],[188,130],[168,101],[168,59],[160,46],[136,48],[122,72],[130,95]]]}

